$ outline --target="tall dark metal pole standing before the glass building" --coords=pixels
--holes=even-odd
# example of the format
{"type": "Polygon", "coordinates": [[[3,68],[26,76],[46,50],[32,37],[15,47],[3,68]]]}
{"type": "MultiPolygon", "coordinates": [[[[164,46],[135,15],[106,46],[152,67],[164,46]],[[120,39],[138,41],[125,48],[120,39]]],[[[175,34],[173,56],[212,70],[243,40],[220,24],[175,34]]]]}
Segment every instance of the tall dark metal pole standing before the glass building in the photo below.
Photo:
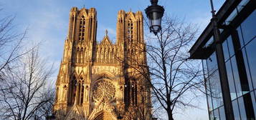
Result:
{"type": "Polygon", "coordinates": [[[231,96],[230,96],[230,91],[229,91],[229,83],[227,80],[227,69],[226,69],[225,61],[224,61],[222,42],[220,40],[220,32],[218,29],[217,16],[215,15],[212,0],[210,0],[210,2],[211,2],[211,8],[212,8],[211,22],[212,22],[212,26],[213,26],[213,30],[214,30],[214,43],[215,43],[217,63],[218,63],[218,68],[219,68],[219,79],[220,79],[220,84],[222,87],[222,96],[223,96],[223,101],[224,101],[225,116],[226,116],[227,120],[234,120],[232,101],[231,101],[231,96]]]}

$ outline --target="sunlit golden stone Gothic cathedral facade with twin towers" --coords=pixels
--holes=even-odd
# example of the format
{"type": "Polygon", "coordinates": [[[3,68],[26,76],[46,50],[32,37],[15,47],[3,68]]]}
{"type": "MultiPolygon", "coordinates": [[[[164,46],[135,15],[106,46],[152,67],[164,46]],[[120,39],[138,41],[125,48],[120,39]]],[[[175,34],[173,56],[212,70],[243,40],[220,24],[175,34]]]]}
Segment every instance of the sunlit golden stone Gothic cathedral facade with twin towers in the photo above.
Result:
{"type": "Polygon", "coordinates": [[[151,118],[150,89],[145,77],[139,74],[147,71],[143,14],[120,10],[117,20],[115,43],[108,31],[98,42],[96,10],[70,10],[56,81],[56,119],[151,118]]]}

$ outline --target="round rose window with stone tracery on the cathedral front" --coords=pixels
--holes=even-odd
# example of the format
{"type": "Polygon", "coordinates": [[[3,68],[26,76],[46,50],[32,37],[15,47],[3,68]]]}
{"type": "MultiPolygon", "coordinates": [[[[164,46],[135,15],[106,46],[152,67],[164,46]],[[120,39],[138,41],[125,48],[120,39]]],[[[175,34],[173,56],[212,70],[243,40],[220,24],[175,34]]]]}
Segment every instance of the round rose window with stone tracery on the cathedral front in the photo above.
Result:
{"type": "Polygon", "coordinates": [[[93,87],[95,101],[110,101],[115,98],[115,86],[110,81],[100,80],[93,87]]]}

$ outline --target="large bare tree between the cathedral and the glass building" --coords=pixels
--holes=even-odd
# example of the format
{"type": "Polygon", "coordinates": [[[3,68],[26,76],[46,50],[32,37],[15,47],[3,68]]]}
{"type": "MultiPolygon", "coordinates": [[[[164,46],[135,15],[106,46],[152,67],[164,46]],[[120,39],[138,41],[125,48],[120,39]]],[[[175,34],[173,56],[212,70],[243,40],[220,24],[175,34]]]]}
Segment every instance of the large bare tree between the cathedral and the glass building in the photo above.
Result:
{"type": "Polygon", "coordinates": [[[148,66],[128,64],[148,80],[152,97],[169,120],[174,120],[176,110],[196,107],[193,101],[204,91],[202,64],[189,59],[188,54],[196,32],[194,25],[165,16],[157,36],[145,34],[146,49],[137,47],[146,52],[148,66]]]}

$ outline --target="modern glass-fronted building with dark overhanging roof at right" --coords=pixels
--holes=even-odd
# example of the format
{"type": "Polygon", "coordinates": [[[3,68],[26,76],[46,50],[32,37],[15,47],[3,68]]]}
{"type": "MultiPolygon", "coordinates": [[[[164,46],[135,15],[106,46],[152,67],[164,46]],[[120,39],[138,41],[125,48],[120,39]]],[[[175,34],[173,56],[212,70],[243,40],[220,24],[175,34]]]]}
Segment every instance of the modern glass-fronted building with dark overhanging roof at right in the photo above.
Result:
{"type": "Polygon", "coordinates": [[[256,119],[255,8],[255,0],[227,0],[217,12],[224,57],[217,56],[212,23],[189,51],[191,59],[202,59],[210,120],[226,120],[228,114],[235,120],[256,119]]]}

